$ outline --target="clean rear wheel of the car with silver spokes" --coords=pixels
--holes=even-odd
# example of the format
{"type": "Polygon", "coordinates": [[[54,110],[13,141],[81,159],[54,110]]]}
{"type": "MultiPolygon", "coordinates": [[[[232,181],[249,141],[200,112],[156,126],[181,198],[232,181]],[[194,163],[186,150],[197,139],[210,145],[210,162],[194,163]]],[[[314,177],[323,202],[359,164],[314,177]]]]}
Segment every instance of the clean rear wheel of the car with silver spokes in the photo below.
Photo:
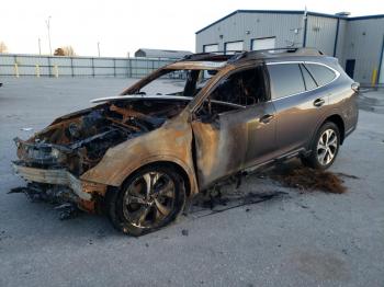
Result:
{"type": "Polygon", "coordinates": [[[325,123],[316,134],[310,146],[310,154],[302,158],[304,165],[326,170],[332,165],[340,148],[340,131],[332,122],[325,123]]]}

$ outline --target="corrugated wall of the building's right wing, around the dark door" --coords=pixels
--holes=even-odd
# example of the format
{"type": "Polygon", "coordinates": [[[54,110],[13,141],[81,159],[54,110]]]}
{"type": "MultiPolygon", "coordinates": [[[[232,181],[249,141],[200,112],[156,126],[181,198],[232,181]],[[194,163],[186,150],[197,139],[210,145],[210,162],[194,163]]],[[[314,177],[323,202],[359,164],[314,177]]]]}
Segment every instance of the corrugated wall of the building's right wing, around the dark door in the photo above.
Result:
{"type": "Polygon", "coordinates": [[[355,80],[363,83],[371,82],[373,70],[379,70],[380,67],[383,37],[383,18],[348,21],[343,61],[355,59],[355,80]]]}

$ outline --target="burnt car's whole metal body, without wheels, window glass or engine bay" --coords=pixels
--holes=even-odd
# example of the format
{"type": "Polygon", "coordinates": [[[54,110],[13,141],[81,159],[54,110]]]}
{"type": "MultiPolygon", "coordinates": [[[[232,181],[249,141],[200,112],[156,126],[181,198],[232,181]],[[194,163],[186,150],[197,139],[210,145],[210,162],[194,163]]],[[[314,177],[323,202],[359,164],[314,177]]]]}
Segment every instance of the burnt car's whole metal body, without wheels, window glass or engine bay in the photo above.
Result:
{"type": "MultiPolygon", "coordinates": [[[[279,57],[271,55],[270,58],[255,59],[238,57],[225,64],[212,60],[181,60],[158,69],[124,90],[118,96],[95,101],[117,103],[118,101],[137,102],[162,99],[169,103],[174,100],[189,102],[177,116],[167,119],[153,130],[110,147],[94,167],[79,174],[78,177],[63,170],[44,172],[42,169],[25,168],[23,163],[15,163],[15,169],[30,182],[60,184],[76,190],[76,194],[81,195],[78,204],[90,211],[95,208],[92,204],[100,196],[105,195],[109,186],[118,187],[135,171],[158,162],[172,163],[181,169],[188,177],[189,194],[193,196],[199,191],[208,188],[217,181],[241,170],[262,165],[285,154],[296,154],[297,150],[309,151],[313,137],[323,123],[331,116],[340,116],[345,125],[345,134],[350,134],[355,128],[358,120],[357,93],[351,90],[352,83],[353,81],[343,72],[336,59],[326,56],[279,57]],[[313,91],[276,100],[271,100],[268,94],[268,101],[248,106],[227,103],[233,110],[216,114],[208,119],[199,117],[197,112],[204,104],[211,104],[208,96],[222,79],[260,64],[268,66],[268,64],[282,61],[325,64],[337,70],[339,77],[329,84],[313,91]],[[217,72],[194,97],[137,94],[142,87],[163,74],[166,70],[199,70],[202,68],[217,72]],[[314,106],[314,101],[318,97],[325,100],[321,107],[314,106]],[[269,116],[268,120],[266,116],[269,116]]],[[[267,91],[267,93],[270,92],[267,91]]],[[[218,101],[212,101],[212,103],[223,104],[218,101]]],[[[49,131],[53,127],[66,126],[70,122],[80,123],[81,116],[103,106],[100,104],[59,117],[43,131],[49,131]]],[[[120,110],[122,108],[114,106],[112,110],[111,107],[113,112],[120,110]]],[[[128,111],[126,115],[124,113],[123,111],[123,117],[137,114],[135,111],[128,111]]],[[[34,137],[29,141],[33,139],[34,137]]],[[[27,145],[30,145],[27,141],[18,141],[18,156],[21,160],[25,156],[22,152],[23,146],[27,145]]]]}

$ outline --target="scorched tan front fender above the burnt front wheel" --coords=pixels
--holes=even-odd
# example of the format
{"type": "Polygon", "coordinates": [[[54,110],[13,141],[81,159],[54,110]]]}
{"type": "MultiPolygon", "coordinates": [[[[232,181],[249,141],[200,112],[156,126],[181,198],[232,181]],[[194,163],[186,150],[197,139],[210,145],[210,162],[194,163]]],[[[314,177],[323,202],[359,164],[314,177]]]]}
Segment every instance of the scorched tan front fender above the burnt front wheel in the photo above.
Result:
{"type": "Polygon", "coordinates": [[[182,113],[158,129],[109,149],[99,164],[80,179],[120,186],[138,168],[166,161],[173,162],[185,171],[191,184],[191,194],[196,193],[191,150],[192,129],[188,117],[188,113],[182,113]]]}

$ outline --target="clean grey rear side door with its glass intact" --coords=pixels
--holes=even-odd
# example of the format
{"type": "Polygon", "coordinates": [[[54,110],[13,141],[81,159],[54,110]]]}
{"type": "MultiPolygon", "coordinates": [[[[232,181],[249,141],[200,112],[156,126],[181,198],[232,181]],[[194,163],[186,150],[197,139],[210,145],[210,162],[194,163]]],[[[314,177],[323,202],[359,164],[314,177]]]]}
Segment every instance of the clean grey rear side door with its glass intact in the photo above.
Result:
{"type": "Polygon", "coordinates": [[[303,149],[328,104],[301,62],[269,62],[272,102],[276,111],[276,145],[280,154],[303,149]]]}

